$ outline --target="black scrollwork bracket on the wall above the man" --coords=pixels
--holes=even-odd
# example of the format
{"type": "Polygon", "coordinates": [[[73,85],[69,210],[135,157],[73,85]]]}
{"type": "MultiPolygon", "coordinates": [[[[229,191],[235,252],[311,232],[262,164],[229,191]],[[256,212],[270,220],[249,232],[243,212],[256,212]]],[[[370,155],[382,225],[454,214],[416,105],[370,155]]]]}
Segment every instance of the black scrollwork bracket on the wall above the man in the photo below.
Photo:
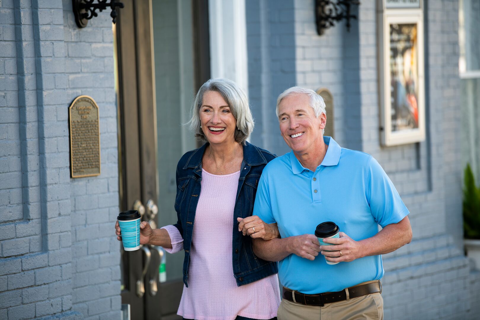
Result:
{"type": "Polygon", "coordinates": [[[333,26],[335,21],[347,20],[347,30],[350,31],[350,19],[357,19],[351,14],[351,5],[360,5],[358,0],[315,0],[315,17],[317,33],[321,36],[324,30],[333,26]]]}

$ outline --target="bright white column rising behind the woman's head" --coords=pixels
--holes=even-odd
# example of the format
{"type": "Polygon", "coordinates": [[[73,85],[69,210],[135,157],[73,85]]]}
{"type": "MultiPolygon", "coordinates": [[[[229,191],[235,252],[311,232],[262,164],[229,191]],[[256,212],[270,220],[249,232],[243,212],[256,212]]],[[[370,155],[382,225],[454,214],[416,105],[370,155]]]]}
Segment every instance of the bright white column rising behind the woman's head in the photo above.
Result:
{"type": "Polygon", "coordinates": [[[235,81],[248,95],[245,0],[209,0],[210,72],[235,81]]]}

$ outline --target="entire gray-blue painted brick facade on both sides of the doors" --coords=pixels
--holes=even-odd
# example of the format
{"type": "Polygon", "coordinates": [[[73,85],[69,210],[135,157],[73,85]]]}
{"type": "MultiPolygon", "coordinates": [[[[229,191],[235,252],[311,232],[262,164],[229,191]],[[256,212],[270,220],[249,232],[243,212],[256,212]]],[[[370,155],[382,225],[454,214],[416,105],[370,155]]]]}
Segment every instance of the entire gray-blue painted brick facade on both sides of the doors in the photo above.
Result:
{"type": "MultiPolygon", "coordinates": [[[[464,159],[458,0],[426,0],[425,141],[382,147],[377,1],[316,33],[314,0],[246,0],[251,141],[288,152],[276,96],[301,85],[333,95],[334,137],[372,154],[410,210],[413,241],[384,255],[385,319],[475,319],[480,274],[462,248],[464,159]]],[[[71,0],[0,0],[0,319],[119,319],[117,108],[105,12],[76,26],[71,0]],[[102,174],[70,178],[68,106],[94,97],[102,174]]],[[[465,120],[464,120],[465,121],[465,120]]]]}

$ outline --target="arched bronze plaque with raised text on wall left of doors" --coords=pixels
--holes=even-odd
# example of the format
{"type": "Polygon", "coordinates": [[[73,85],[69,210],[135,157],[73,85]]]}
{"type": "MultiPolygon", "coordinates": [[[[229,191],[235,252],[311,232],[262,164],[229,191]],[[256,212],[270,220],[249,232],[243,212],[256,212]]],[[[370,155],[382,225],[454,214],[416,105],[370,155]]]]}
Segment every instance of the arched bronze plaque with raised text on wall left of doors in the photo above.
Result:
{"type": "Polygon", "coordinates": [[[100,175],[100,117],[95,100],[88,95],[76,97],[69,118],[72,178],[100,175]]]}

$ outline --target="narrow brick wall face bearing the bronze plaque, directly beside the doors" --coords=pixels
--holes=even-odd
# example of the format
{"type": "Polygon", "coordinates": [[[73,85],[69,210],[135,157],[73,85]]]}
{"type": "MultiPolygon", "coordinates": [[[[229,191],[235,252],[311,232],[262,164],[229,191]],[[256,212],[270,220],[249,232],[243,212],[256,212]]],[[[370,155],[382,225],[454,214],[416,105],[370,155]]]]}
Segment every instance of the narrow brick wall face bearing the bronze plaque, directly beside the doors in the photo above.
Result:
{"type": "Polygon", "coordinates": [[[100,113],[102,174],[70,180],[72,309],[84,319],[120,318],[120,243],[112,237],[118,214],[117,107],[113,33],[109,14],[79,29],[72,2],[63,1],[66,90],[71,100],[92,96],[100,113]]]}

